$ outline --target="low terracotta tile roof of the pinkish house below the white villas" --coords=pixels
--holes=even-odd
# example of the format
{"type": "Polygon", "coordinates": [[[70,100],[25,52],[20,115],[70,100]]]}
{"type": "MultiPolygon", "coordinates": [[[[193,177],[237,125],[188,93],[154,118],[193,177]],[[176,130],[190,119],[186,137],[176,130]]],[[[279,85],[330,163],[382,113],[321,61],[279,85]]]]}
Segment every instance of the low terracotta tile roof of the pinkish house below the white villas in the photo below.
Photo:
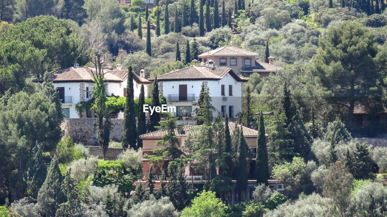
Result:
{"type": "MultiPolygon", "coordinates": [[[[230,133],[233,132],[235,125],[238,125],[238,124],[235,124],[232,122],[228,123],[230,133]]],[[[240,125],[238,125],[238,126],[240,127],[240,125]]],[[[185,137],[185,136],[187,136],[187,134],[191,134],[191,135],[199,134],[200,131],[194,130],[193,129],[194,127],[197,127],[197,126],[183,126],[182,132],[177,132],[177,131],[175,132],[176,136],[185,137]]],[[[161,139],[161,137],[164,134],[166,134],[166,131],[154,131],[154,132],[140,135],[140,139],[161,139]]],[[[257,137],[257,135],[258,135],[258,131],[247,128],[247,127],[243,127],[243,136],[245,136],[246,138],[255,138],[255,137],[257,137]]]]}

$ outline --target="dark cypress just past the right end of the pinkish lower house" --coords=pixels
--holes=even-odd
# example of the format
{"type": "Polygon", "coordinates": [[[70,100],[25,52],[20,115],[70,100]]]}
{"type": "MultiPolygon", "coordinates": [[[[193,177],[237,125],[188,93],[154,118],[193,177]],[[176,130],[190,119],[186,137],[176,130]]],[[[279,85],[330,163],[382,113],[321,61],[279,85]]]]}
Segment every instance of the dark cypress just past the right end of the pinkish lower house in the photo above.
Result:
{"type": "Polygon", "coordinates": [[[255,162],[257,163],[257,185],[260,183],[268,184],[269,179],[269,159],[267,157],[266,136],[265,136],[265,122],[264,115],[259,115],[258,137],[257,137],[257,156],[255,162]]]}

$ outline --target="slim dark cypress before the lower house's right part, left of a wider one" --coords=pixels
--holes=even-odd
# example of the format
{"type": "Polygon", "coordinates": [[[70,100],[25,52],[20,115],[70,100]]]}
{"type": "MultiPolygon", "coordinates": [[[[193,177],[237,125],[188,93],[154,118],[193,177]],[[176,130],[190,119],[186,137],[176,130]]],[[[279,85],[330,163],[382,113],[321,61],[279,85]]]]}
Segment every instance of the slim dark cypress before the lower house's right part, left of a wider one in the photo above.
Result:
{"type": "MultiPolygon", "coordinates": [[[[236,126],[235,126],[236,127],[236,126]]],[[[241,200],[242,192],[247,188],[247,144],[243,136],[243,127],[239,130],[239,146],[238,146],[238,170],[236,171],[236,188],[238,189],[239,200],[241,200]]]]}

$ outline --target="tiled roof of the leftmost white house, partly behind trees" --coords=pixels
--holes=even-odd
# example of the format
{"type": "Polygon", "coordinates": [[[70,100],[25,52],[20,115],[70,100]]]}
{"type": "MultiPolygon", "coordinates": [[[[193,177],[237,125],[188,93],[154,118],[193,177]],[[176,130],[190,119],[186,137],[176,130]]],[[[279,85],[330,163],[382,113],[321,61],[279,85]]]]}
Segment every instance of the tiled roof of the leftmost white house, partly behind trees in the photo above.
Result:
{"type": "MultiPolygon", "coordinates": [[[[54,83],[63,83],[63,82],[94,82],[93,72],[95,73],[95,68],[92,67],[70,67],[64,70],[60,70],[48,75],[48,80],[53,81],[54,83]]],[[[140,78],[133,72],[134,80],[137,83],[151,83],[145,78],[140,78]]],[[[103,69],[104,81],[107,82],[122,82],[128,76],[128,70],[113,70],[103,69]]],[[[44,77],[34,79],[33,82],[43,82],[44,77]]]]}

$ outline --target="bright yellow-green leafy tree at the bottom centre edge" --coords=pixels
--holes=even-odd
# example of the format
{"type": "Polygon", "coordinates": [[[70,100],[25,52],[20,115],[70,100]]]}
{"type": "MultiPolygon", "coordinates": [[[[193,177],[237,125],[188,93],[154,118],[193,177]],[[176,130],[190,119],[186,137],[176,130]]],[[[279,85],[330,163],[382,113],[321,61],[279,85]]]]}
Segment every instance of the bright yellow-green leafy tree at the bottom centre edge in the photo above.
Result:
{"type": "Polygon", "coordinates": [[[181,217],[222,217],[226,205],[219,198],[216,198],[215,192],[206,192],[203,190],[192,200],[192,206],[185,208],[181,217]]]}

